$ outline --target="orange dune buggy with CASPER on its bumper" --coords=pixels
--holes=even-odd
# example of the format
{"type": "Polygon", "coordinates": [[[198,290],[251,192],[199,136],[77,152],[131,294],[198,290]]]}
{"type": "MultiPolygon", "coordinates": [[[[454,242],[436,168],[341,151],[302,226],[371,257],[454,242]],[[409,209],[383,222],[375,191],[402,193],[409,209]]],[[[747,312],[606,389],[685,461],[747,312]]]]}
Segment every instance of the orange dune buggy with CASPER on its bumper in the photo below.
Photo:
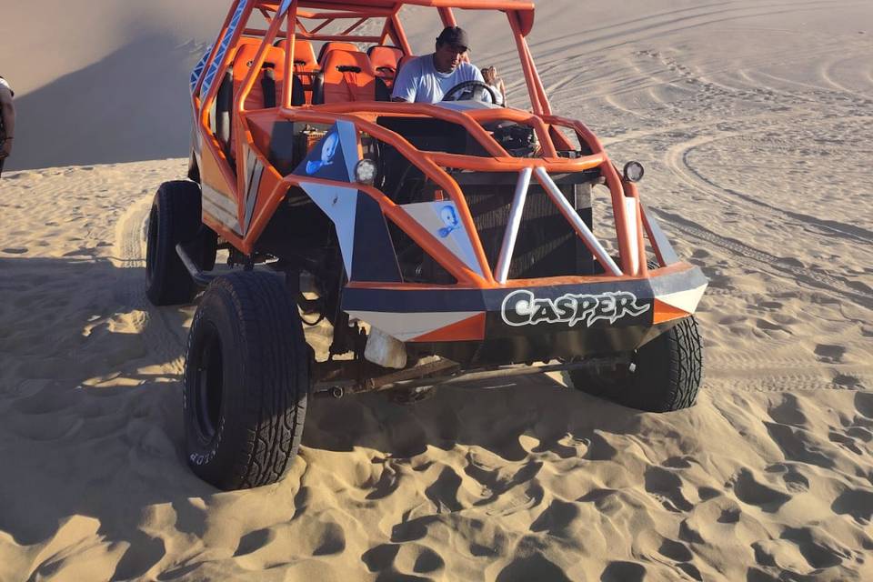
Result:
{"type": "Polygon", "coordinates": [[[619,171],[585,125],[552,113],[533,22],[521,0],[234,1],[190,79],[188,179],[160,187],[147,229],[150,300],[202,292],[184,386],[199,477],[278,480],[316,396],[415,400],[564,372],[627,406],[693,403],[707,280],[641,204],[642,166],[619,171]],[[530,110],[475,82],[436,105],[390,102],[414,58],[405,5],[444,25],[458,9],[502,13],[530,110]],[[595,186],[612,248],[592,225],[595,186]],[[216,270],[219,249],[238,268],[216,270]],[[320,356],[304,333],[316,324],[320,356]]]}

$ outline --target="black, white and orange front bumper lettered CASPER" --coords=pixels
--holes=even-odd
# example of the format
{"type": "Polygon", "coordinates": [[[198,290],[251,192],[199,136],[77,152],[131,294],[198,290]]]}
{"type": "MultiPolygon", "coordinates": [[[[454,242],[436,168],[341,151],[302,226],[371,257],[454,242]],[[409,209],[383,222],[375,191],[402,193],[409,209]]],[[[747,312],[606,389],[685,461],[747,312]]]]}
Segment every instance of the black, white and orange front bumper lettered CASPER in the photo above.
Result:
{"type": "Polygon", "coordinates": [[[645,278],[559,278],[488,289],[348,286],[343,309],[423,353],[513,364],[629,351],[690,316],[707,287],[679,263],[645,278]]]}

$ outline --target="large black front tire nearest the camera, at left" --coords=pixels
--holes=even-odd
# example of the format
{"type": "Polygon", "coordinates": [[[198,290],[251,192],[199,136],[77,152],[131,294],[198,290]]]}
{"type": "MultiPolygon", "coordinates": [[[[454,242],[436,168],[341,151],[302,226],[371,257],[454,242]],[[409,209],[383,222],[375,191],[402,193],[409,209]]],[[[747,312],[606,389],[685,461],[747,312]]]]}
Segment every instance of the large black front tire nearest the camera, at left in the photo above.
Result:
{"type": "Polygon", "coordinates": [[[214,280],[188,336],[188,465],[221,489],[276,483],[296,457],[309,393],[309,347],[278,276],[214,280]]]}

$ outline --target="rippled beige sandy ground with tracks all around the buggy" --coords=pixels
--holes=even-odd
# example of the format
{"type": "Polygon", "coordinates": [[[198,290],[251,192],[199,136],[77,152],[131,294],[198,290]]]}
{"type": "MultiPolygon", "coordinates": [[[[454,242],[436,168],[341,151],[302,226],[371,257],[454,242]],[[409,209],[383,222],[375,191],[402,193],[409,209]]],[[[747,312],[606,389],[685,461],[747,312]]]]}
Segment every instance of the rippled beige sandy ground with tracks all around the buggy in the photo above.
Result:
{"type": "MultiPolygon", "coordinates": [[[[285,480],[216,492],[182,451],[194,308],[143,293],[149,198],[186,160],[73,147],[31,159],[103,164],[0,180],[0,580],[873,579],[873,5],[621,4],[541,2],[532,44],[711,279],[697,406],[553,378],[318,400],[285,480]]],[[[118,37],[73,65],[157,58],[118,37]]]]}

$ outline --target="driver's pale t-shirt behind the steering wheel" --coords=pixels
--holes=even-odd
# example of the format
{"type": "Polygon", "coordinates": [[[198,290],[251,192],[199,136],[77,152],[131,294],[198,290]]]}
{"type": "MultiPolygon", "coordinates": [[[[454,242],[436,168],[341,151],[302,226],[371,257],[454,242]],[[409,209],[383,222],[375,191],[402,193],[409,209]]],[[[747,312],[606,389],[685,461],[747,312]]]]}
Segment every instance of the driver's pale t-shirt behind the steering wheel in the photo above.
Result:
{"type": "Polygon", "coordinates": [[[466,61],[451,73],[440,73],[434,66],[434,55],[419,56],[400,69],[391,97],[409,103],[439,103],[449,89],[465,81],[484,83],[485,79],[476,65],[466,61]]]}

